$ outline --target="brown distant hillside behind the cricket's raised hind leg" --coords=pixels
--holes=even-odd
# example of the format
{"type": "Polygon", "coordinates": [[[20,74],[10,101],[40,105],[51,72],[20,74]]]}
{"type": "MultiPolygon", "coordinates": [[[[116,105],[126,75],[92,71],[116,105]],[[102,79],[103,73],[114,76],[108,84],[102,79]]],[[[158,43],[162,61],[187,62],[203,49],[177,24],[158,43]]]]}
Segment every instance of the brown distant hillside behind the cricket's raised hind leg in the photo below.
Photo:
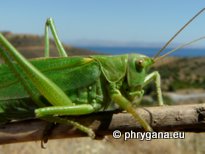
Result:
{"type": "MultiPolygon", "coordinates": [[[[2,32],[2,34],[14,45],[19,52],[27,58],[42,57],[44,55],[44,37],[31,34],[14,34],[11,32],[2,32]]],[[[64,45],[68,55],[91,55],[95,52],[75,48],[72,46],[64,45]]],[[[58,52],[53,40],[50,41],[51,56],[58,56],[58,52]]]]}

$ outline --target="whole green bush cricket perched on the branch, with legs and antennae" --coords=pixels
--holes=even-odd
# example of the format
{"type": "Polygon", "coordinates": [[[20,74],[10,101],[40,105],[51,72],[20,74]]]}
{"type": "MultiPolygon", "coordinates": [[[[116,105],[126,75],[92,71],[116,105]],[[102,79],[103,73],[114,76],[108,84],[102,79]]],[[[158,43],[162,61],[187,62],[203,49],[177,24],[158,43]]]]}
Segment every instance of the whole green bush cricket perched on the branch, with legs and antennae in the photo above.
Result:
{"type": "Polygon", "coordinates": [[[145,131],[152,131],[133,108],[133,102],[141,98],[143,88],[154,81],[159,105],[163,105],[160,75],[156,71],[147,75],[147,71],[156,61],[175,51],[159,56],[202,11],[204,9],[185,24],[154,58],[141,54],[68,57],[51,18],[45,26],[45,58],[26,60],[0,34],[0,55],[5,61],[5,64],[0,64],[0,123],[40,118],[51,123],[71,124],[94,138],[93,130],[61,116],[106,111],[110,104],[116,103],[132,114],[145,131]],[[59,52],[57,58],[49,57],[49,28],[59,52]]]}

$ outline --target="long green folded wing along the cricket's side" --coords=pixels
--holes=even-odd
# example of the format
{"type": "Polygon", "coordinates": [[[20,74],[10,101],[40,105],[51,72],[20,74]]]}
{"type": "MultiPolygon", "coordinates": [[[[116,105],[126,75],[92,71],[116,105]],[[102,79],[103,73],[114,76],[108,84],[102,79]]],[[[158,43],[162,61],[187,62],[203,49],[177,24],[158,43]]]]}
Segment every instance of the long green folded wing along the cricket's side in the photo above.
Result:
{"type": "MultiPolygon", "coordinates": [[[[37,59],[31,63],[63,91],[86,87],[94,83],[101,74],[98,63],[82,57],[37,59]]],[[[0,76],[0,100],[29,97],[7,65],[0,65],[0,76]]],[[[35,86],[28,82],[38,93],[35,86]]]]}

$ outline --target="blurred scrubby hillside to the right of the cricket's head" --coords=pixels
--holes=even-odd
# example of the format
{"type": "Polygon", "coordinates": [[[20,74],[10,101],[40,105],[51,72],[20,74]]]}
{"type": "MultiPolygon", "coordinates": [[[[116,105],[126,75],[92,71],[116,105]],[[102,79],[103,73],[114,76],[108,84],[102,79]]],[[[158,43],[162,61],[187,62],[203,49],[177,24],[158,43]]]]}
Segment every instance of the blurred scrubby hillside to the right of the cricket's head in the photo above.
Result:
{"type": "Polygon", "coordinates": [[[156,64],[152,70],[159,71],[163,90],[205,89],[205,57],[169,57],[156,64]]]}

